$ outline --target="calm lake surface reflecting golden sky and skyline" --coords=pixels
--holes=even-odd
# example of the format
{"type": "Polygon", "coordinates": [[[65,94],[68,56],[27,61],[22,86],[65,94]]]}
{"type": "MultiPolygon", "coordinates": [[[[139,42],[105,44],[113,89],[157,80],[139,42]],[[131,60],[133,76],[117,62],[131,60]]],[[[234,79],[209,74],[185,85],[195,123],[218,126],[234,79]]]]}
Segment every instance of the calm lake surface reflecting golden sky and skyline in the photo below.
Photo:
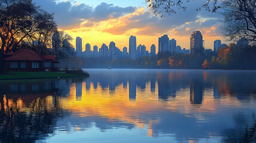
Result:
{"type": "Polygon", "coordinates": [[[254,142],[256,71],[0,81],[0,142],[254,142]]]}

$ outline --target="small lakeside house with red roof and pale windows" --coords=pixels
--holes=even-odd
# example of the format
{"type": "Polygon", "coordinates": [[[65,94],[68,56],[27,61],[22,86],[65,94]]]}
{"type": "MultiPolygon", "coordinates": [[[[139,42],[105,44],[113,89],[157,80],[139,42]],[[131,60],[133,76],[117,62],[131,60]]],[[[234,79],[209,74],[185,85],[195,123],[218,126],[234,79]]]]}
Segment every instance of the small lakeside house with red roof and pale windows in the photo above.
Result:
{"type": "Polygon", "coordinates": [[[59,63],[54,55],[41,55],[30,49],[7,52],[4,58],[4,71],[54,71],[59,63]]]}

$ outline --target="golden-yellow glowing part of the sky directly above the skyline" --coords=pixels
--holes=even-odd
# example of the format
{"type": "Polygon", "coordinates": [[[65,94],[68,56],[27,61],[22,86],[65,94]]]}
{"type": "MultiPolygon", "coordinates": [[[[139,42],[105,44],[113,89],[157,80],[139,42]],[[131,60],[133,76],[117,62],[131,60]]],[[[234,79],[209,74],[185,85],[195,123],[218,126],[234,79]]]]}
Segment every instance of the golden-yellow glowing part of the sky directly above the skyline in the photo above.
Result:
{"type": "MultiPolygon", "coordinates": [[[[157,35],[138,35],[136,34],[140,30],[154,29],[154,27],[150,25],[141,26],[140,28],[132,28],[132,22],[129,21],[134,16],[143,15],[146,12],[145,8],[138,8],[134,13],[124,15],[122,17],[113,18],[112,15],[109,16],[109,20],[100,21],[95,23],[94,26],[91,26],[91,22],[89,20],[85,20],[81,23],[79,27],[69,27],[70,30],[65,30],[69,35],[73,37],[73,46],[75,47],[76,37],[79,36],[82,38],[82,50],[85,50],[85,44],[91,44],[91,50],[94,45],[97,45],[98,48],[101,47],[102,43],[106,43],[109,46],[111,41],[116,43],[116,46],[121,49],[124,46],[129,48],[129,36],[135,35],[137,38],[137,45],[146,45],[148,51],[150,51],[150,46],[152,44],[156,45],[156,52],[158,52],[158,38],[164,34],[168,34],[170,39],[176,39],[177,45],[180,45],[181,48],[190,49],[190,35],[192,31],[201,30],[203,35],[203,40],[205,40],[205,48],[213,49],[213,43],[215,39],[223,39],[221,36],[216,36],[215,32],[217,30],[216,27],[212,26],[209,28],[203,29],[191,29],[185,28],[183,31],[179,32],[177,29],[172,29],[166,31],[166,33],[159,33],[156,29],[157,35]],[[131,26],[130,26],[131,25],[131,26]]],[[[203,23],[205,20],[196,20],[196,23],[199,25],[203,23]]],[[[185,24],[190,24],[191,22],[187,22],[185,24]]],[[[93,25],[93,24],[92,24],[93,25]]],[[[171,27],[171,24],[170,24],[171,27]]],[[[61,29],[60,29],[61,30],[61,29]]],[[[149,32],[150,33],[150,32],[149,32]]]]}

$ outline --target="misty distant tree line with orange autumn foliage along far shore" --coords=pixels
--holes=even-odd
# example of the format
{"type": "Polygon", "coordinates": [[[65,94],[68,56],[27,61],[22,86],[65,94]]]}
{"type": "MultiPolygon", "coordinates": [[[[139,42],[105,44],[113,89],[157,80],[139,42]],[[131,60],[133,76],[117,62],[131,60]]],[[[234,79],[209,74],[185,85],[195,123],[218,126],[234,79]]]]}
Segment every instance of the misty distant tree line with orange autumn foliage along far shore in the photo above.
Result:
{"type": "Polygon", "coordinates": [[[144,68],[144,69],[256,69],[256,47],[230,44],[218,52],[205,54],[159,53],[156,57],[137,58],[79,58],[64,59],[61,67],[70,68],[144,68]]]}

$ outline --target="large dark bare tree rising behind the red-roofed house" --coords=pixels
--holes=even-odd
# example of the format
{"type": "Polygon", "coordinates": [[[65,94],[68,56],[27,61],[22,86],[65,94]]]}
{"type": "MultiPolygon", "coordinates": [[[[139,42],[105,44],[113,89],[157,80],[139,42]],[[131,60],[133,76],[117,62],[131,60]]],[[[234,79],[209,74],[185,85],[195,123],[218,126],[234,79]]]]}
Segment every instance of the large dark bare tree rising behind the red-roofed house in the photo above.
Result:
{"type": "MultiPolygon", "coordinates": [[[[32,0],[0,0],[0,25],[0,73],[4,71],[6,51],[25,39],[32,42],[37,38],[38,43],[46,44],[51,30],[57,27],[53,15],[36,7],[32,0]]],[[[39,51],[45,52],[42,48],[39,51]]]]}

